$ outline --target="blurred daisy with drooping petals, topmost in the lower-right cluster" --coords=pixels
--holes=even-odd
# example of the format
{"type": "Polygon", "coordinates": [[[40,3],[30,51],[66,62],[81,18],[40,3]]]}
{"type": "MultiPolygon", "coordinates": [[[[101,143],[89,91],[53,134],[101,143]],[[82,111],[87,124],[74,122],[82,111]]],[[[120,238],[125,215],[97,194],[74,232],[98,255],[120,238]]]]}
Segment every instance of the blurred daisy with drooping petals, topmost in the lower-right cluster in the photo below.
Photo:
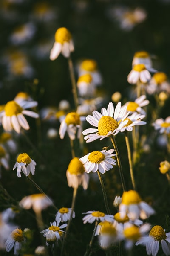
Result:
{"type": "Polygon", "coordinates": [[[148,218],[155,211],[149,204],[142,201],[141,197],[135,190],[123,192],[122,203],[119,205],[120,217],[124,218],[126,214],[131,220],[148,218]]]}

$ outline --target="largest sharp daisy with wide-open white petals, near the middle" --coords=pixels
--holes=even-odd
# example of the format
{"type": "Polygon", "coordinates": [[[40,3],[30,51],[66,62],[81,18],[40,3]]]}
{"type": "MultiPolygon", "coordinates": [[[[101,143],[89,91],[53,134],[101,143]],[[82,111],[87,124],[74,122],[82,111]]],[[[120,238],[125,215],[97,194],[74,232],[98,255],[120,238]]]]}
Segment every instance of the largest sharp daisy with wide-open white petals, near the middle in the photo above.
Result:
{"type": "Polygon", "coordinates": [[[113,103],[108,104],[108,108],[102,108],[102,113],[98,111],[93,111],[93,116],[88,115],[86,120],[96,128],[89,128],[82,132],[85,136],[86,142],[92,142],[97,139],[104,139],[106,137],[118,134],[118,132],[127,124],[124,122],[125,118],[128,116],[127,107],[121,108],[121,102],[118,102],[114,110],[113,103]],[[114,116],[113,116],[114,114],[114,116]]]}

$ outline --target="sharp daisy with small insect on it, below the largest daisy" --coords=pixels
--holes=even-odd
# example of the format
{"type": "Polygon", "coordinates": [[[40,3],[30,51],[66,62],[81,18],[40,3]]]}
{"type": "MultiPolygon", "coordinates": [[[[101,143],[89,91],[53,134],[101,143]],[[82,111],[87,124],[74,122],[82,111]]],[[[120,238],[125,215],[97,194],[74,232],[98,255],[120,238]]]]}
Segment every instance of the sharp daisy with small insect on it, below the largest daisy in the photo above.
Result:
{"type": "Polygon", "coordinates": [[[114,149],[109,149],[108,151],[93,151],[88,153],[79,160],[83,163],[85,172],[101,172],[104,174],[106,171],[113,168],[116,165],[116,160],[113,159],[115,154],[112,154],[114,149]]]}

